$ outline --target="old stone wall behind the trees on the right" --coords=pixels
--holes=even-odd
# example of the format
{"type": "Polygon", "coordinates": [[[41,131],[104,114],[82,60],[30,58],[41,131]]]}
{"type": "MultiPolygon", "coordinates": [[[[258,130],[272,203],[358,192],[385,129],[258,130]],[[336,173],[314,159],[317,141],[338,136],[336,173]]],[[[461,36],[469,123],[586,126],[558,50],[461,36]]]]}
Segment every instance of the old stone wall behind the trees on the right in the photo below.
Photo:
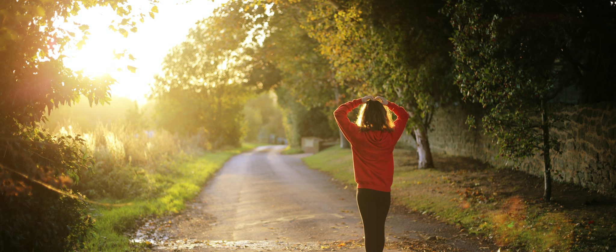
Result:
{"type": "MultiPolygon", "coordinates": [[[[552,155],[553,178],[616,196],[616,104],[550,105],[558,114],[569,116],[564,130],[551,132],[562,144],[562,154],[552,155]]],[[[495,167],[511,165],[511,161],[497,158],[498,147],[491,138],[479,128],[468,129],[466,117],[472,114],[480,120],[481,111],[463,104],[439,108],[428,136],[432,152],[472,157],[495,167]]],[[[408,136],[404,140],[412,142],[408,136]]],[[[522,160],[519,168],[543,176],[543,158],[537,155],[522,160]]]]}

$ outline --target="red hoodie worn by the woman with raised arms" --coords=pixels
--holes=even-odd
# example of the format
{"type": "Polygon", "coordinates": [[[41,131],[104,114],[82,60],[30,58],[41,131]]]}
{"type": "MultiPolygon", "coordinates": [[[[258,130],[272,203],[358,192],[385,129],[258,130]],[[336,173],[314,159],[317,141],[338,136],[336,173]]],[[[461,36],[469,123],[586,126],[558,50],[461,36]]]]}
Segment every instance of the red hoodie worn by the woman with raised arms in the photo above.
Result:
{"type": "Polygon", "coordinates": [[[357,188],[390,192],[394,180],[394,146],[407,125],[408,113],[391,101],[387,108],[398,118],[394,121],[394,131],[375,130],[361,132],[347,114],[362,104],[362,99],[344,103],[334,111],[334,117],[344,137],[351,143],[353,170],[357,188]]]}

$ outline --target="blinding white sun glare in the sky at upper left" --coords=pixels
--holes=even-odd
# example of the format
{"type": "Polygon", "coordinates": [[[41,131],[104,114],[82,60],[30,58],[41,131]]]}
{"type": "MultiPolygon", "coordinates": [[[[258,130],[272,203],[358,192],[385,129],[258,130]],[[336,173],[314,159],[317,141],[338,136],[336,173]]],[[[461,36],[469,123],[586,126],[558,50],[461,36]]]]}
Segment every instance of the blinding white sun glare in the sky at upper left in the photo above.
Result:
{"type": "MultiPolygon", "coordinates": [[[[129,0],[134,11],[149,10],[152,6],[149,1],[129,0]]],[[[160,1],[159,13],[155,18],[146,18],[144,23],[137,21],[137,33],[129,32],[128,37],[111,31],[108,26],[111,20],[118,21],[118,16],[110,7],[93,7],[83,9],[68,23],[59,24],[63,28],[71,29],[73,22],[89,26],[89,35],[86,44],[81,50],[75,46],[65,50],[65,66],[73,71],[82,70],[87,76],[101,76],[110,74],[117,84],[111,85],[111,95],[123,96],[145,103],[150,92],[150,84],[155,74],[161,73],[164,57],[175,45],[186,39],[188,30],[195,26],[195,22],[208,17],[216,6],[224,0],[217,1],[160,1]],[[115,53],[123,53],[124,57],[116,58],[115,53]],[[129,59],[129,53],[134,60],[129,59]],[[128,66],[136,69],[135,73],[129,71],[128,66]]],[[[145,12],[147,14],[147,11],[145,12]]],[[[121,19],[121,18],[120,18],[121,19]]]]}

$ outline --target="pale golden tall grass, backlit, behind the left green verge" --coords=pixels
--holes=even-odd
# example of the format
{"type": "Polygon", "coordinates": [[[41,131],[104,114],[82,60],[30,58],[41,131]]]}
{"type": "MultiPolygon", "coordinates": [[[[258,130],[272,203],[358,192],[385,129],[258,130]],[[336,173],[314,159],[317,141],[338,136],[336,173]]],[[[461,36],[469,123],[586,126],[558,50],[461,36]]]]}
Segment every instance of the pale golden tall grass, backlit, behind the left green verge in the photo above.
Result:
{"type": "MultiPolygon", "coordinates": [[[[160,173],[173,173],[174,163],[203,154],[198,136],[190,138],[165,130],[146,130],[131,124],[96,125],[84,132],[79,125],[65,122],[55,130],[85,140],[82,151],[95,162],[82,171],[76,190],[92,199],[123,201],[152,197],[163,191],[160,173]]],[[[163,179],[164,180],[164,179],[163,179]]]]}

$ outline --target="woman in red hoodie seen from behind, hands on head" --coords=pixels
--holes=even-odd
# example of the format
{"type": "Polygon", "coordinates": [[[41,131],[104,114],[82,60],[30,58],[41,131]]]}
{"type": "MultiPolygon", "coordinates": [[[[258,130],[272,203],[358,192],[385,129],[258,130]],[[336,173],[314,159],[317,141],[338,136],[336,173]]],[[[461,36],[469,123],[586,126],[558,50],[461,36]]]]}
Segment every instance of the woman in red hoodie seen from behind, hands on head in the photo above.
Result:
{"type": "Polygon", "coordinates": [[[357,207],[362,216],[366,251],[383,251],[385,218],[394,178],[393,151],[407,125],[408,113],[381,96],[368,95],[340,105],[334,117],[351,143],[357,207]],[[353,124],[347,114],[362,103],[357,122],[353,124]],[[397,116],[395,122],[385,106],[397,116]]]}

